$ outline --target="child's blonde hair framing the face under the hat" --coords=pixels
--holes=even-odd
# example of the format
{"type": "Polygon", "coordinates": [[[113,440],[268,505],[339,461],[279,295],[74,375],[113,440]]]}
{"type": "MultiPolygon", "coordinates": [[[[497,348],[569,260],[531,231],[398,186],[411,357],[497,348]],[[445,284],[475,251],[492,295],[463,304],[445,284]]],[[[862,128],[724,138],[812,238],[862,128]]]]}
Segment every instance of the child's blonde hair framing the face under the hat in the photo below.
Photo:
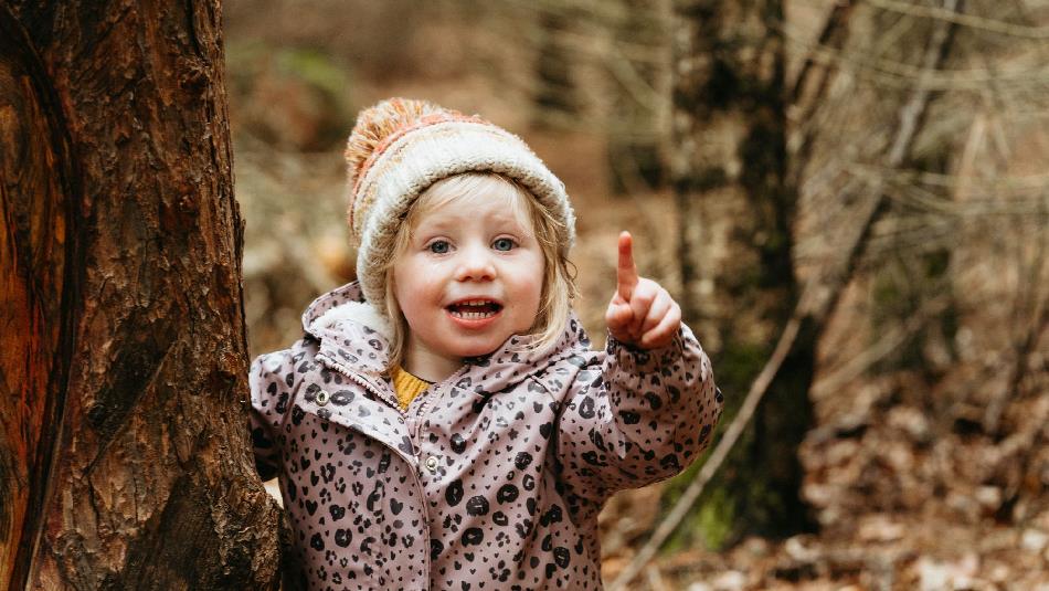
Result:
{"type": "Polygon", "coordinates": [[[412,232],[428,213],[466,198],[485,196],[486,199],[509,201],[518,222],[532,231],[543,254],[543,285],[539,313],[529,330],[533,339],[524,344],[529,349],[552,345],[569,321],[572,299],[579,296],[575,268],[568,258],[568,246],[558,241],[564,224],[532,193],[516,180],[497,172],[464,172],[442,179],[423,191],[409,208],[393,239],[393,255],[383,268],[385,275],[386,316],[390,318],[390,360],[388,369],[404,361],[404,345],[409,326],[394,295],[393,267],[411,243],[412,232]]]}

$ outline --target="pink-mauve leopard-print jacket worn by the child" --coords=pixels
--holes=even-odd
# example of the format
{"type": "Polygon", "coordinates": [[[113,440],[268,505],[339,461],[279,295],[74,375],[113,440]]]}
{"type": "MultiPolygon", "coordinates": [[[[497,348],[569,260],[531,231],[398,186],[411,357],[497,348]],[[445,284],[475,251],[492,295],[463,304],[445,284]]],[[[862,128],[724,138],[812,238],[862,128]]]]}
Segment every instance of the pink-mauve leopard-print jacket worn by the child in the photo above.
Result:
{"type": "Polygon", "coordinates": [[[356,283],[319,297],[304,338],[251,369],[256,465],[279,477],[307,589],[601,589],[604,502],[685,469],[721,414],[688,327],[594,351],[574,317],[554,346],[511,337],[401,410],[385,339],[317,321],[361,299],[356,283]]]}

